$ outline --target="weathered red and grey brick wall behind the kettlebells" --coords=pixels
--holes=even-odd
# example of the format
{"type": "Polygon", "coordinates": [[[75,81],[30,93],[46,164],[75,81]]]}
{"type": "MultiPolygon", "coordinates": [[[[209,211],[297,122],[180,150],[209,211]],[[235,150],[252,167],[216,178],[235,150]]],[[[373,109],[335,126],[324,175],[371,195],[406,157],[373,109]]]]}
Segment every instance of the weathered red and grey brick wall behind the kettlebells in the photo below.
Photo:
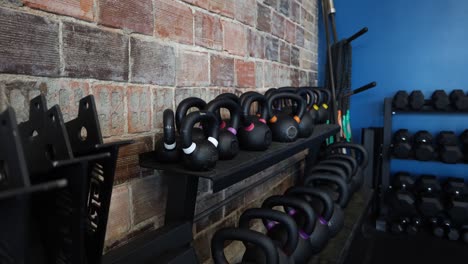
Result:
{"type": "MultiPolygon", "coordinates": [[[[111,249],[164,218],[165,177],[137,156],[152,150],[162,111],[188,96],[315,84],[317,38],[316,0],[0,0],[0,110],[10,105],[24,121],[43,93],[68,121],[94,94],[105,140],[136,140],[118,161],[111,249]]],[[[194,227],[203,261],[213,230],[290,185],[300,160],[217,194],[200,184],[197,213],[213,211],[194,227]]]]}

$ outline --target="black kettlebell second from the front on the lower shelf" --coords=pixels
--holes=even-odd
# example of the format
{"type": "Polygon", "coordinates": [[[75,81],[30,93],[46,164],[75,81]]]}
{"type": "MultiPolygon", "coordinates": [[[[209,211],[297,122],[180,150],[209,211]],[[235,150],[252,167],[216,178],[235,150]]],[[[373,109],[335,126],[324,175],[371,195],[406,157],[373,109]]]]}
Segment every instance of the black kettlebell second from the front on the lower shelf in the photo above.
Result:
{"type": "MultiPolygon", "coordinates": [[[[294,264],[292,254],[296,250],[299,242],[299,230],[294,219],[280,211],[265,208],[251,208],[245,210],[240,216],[239,227],[249,229],[250,221],[254,219],[270,221],[268,226],[271,227],[267,228],[266,234],[276,245],[279,263],[294,264]]],[[[261,259],[262,255],[263,253],[258,248],[246,245],[242,261],[255,263],[255,260],[261,259]]]]}

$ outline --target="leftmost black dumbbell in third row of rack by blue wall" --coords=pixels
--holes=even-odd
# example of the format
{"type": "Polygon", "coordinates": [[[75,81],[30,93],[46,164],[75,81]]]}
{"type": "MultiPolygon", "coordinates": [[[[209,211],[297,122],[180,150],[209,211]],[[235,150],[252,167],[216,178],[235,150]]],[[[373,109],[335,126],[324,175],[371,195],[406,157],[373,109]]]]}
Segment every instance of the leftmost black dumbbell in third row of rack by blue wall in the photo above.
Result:
{"type": "Polygon", "coordinates": [[[394,218],[417,215],[416,197],[413,193],[414,179],[407,172],[398,172],[393,176],[387,203],[394,218]]]}

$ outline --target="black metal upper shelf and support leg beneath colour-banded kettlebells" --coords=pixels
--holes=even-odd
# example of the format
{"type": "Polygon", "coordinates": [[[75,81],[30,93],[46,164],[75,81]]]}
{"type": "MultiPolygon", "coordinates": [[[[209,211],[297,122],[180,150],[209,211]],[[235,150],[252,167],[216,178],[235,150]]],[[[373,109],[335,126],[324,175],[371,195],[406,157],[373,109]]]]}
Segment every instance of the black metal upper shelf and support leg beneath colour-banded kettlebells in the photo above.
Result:
{"type": "Polygon", "coordinates": [[[110,251],[104,256],[104,263],[198,263],[192,247],[192,226],[200,178],[211,181],[216,193],[306,149],[307,164],[312,164],[320,144],[338,131],[338,125],[318,125],[309,138],[292,143],[273,142],[264,152],[240,151],[233,160],[218,161],[207,172],[186,170],[182,164],[157,162],[155,152],[141,154],[141,167],[161,170],[169,176],[165,224],[110,251]]]}

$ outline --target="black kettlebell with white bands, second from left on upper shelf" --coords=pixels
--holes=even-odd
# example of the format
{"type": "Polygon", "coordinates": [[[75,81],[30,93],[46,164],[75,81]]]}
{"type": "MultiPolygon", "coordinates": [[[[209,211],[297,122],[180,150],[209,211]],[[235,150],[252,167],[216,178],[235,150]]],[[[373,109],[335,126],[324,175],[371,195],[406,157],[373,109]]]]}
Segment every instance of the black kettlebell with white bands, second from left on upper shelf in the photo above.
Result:
{"type": "MultiPolygon", "coordinates": [[[[208,111],[196,111],[188,114],[181,124],[180,139],[182,141],[183,161],[187,169],[195,171],[210,170],[218,160],[218,129],[216,116],[208,111]],[[205,139],[193,139],[192,128],[201,122],[203,130],[208,135],[205,139]]],[[[203,134],[203,131],[202,131],[203,134]]]]}

